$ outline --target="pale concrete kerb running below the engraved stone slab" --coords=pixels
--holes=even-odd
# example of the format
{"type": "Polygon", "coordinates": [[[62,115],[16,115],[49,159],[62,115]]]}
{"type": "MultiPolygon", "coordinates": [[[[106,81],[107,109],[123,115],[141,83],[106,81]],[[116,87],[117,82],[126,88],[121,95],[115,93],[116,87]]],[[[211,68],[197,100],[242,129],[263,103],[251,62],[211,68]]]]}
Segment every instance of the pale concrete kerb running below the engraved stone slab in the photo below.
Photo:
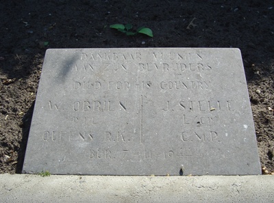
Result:
{"type": "Polygon", "coordinates": [[[274,176],[1,174],[0,202],[274,202],[274,176]]]}

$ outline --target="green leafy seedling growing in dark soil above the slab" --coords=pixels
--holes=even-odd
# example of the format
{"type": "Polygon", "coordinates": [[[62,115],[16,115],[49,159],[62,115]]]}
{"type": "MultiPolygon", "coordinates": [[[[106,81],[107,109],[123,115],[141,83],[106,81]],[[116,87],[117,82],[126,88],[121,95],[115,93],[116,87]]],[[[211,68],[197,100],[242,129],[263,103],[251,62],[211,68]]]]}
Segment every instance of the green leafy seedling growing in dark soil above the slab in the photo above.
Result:
{"type": "Polygon", "coordinates": [[[110,28],[114,28],[117,29],[118,31],[121,31],[123,33],[125,33],[127,36],[134,36],[137,33],[143,33],[149,37],[153,37],[153,33],[152,30],[149,29],[148,27],[139,27],[138,29],[136,29],[136,31],[132,30],[132,24],[114,24],[114,25],[110,25],[110,28]]]}

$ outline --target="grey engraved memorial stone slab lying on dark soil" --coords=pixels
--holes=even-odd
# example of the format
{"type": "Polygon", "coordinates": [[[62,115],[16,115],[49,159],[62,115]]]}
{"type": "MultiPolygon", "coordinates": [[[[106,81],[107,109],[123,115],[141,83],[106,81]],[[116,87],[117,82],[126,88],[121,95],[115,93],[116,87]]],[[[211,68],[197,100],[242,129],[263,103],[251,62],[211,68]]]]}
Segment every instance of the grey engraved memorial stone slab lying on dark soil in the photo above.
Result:
{"type": "Polygon", "coordinates": [[[23,172],[47,170],[260,174],[240,50],[47,50],[23,172]]]}

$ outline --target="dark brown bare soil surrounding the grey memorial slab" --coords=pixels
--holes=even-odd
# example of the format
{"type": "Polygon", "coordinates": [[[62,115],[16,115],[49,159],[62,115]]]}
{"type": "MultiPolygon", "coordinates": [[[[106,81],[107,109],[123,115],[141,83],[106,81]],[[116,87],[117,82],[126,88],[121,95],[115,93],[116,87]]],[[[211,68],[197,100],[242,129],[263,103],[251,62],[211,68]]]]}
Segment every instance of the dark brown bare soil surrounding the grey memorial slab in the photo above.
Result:
{"type": "Polygon", "coordinates": [[[0,19],[0,173],[21,173],[46,49],[99,47],[239,48],[263,172],[274,172],[273,1],[10,0],[0,19]],[[115,23],[154,37],[125,36],[115,23]]]}

